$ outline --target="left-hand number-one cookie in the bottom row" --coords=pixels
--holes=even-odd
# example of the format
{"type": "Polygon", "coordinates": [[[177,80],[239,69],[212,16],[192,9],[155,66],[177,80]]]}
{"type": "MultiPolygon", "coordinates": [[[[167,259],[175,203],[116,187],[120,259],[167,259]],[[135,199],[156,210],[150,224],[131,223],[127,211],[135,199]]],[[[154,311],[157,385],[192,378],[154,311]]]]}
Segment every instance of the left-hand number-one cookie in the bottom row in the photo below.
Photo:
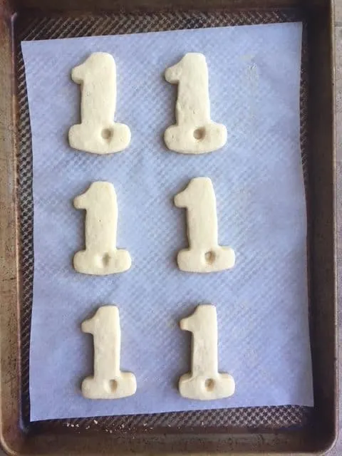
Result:
{"type": "Polygon", "coordinates": [[[119,399],[137,390],[135,375],[120,371],[120,317],[116,306],[99,307],[93,318],[83,321],[83,333],[93,334],[94,375],[82,382],[88,399],[119,399]]]}

